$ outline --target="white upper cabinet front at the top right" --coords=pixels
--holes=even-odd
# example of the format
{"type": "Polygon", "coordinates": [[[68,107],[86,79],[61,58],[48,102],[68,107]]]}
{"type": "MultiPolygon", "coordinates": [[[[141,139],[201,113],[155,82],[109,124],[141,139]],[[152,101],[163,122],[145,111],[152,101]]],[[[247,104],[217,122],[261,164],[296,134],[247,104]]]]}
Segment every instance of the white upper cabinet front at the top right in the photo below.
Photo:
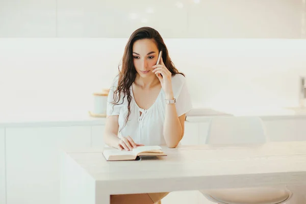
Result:
{"type": "Polygon", "coordinates": [[[301,37],[300,0],[198,2],[188,8],[187,35],[190,38],[301,37]]]}

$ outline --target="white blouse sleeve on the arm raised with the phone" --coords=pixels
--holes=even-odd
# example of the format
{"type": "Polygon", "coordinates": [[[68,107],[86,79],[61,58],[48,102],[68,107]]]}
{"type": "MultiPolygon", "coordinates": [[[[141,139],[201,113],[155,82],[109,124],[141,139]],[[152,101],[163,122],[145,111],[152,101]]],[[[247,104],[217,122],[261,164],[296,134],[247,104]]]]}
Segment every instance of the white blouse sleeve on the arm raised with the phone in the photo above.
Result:
{"type": "Polygon", "coordinates": [[[175,80],[173,80],[172,86],[173,88],[175,87],[175,107],[177,116],[180,117],[181,115],[188,113],[192,109],[191,96],[187,87],[186,78],[182,74],[175,74],[174,77],[176,78],[175,80]]]}

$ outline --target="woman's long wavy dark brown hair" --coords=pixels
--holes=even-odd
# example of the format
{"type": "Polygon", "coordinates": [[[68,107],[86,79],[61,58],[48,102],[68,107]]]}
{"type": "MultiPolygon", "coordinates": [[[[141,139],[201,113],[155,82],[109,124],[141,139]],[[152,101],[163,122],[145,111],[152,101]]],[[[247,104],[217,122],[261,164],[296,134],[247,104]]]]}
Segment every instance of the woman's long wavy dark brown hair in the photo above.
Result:
{"type": "Polygon", "coordinates": [[[125,45],[121,70],[120,70],[120,65],[118,66],[119,70],[118,86],[117,89],[114,91],[113,105],[118,105],[121,93],[123,93],[123,100],[125,97],[127,98],[128,113],[125,118],[125,124],[127,123],[127,120],[129,120],[129,116],[131,114],[130,105],[132,101],[132,96],[131,96],[130,87],[134,83],[137,73],[133,62],[133,44],[134,42],[140,39],[155,40],[158,49],[163,51],[162,54],[163,62],[165,66],[168,68],[168,70],[172,73],[172,76],[177,73],[180,73],[172,63],[168,54],[168,49],[164,43],[164,40],[157,30],[150,27],[142,27],[134,31],[125,45]]]}

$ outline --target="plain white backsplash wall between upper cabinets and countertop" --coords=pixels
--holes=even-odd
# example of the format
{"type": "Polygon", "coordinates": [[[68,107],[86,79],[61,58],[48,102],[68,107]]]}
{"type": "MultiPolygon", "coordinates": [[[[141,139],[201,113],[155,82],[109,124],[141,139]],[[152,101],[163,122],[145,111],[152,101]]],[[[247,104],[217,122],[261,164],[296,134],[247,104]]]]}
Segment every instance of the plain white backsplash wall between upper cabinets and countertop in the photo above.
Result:
{"type": "MultiPolygon", "coordinates": [[[[1,107],[14,111],[87,110],[109,88],[127,39],[0,39],[1,107]]],[[[306,40],[165,39],[186,73],[195,107],[298,104],[306,40]]]]}

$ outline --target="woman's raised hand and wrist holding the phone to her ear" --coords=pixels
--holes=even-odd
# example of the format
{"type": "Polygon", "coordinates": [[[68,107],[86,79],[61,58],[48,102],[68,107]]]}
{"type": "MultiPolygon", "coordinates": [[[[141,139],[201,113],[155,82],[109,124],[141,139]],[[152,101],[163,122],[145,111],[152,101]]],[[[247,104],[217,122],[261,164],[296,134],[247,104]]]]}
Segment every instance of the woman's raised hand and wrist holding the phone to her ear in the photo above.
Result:
{"type": "Polygon", "coordinates": [[[161,58],[160,64],[154,65],[152,66],[152,68],[154,68],[152,72],[156,74],[157,78],[161,82],[162,88],[166,93],[166,97],[170,97],[169,99],[172,99],[173,97],[172,83],[171,83],[172,74],[165,66],[163,58],[161,58]]]}

